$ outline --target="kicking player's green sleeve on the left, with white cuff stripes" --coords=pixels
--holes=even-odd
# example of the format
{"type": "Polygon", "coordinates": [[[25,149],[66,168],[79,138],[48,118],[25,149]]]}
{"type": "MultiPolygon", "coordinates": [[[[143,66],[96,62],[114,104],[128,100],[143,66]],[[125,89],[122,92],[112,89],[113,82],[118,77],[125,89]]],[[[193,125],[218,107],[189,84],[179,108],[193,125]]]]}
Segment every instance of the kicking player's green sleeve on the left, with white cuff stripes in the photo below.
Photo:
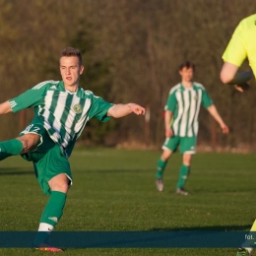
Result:
{"type": "Polygon", "coordinates": [[[25,108],[39,105],[43,101],[44,96],[45,87],[37,89],[35,86],[22,95],[9,99],[9,103],[13,112],[16,113],[25,108]]]}

